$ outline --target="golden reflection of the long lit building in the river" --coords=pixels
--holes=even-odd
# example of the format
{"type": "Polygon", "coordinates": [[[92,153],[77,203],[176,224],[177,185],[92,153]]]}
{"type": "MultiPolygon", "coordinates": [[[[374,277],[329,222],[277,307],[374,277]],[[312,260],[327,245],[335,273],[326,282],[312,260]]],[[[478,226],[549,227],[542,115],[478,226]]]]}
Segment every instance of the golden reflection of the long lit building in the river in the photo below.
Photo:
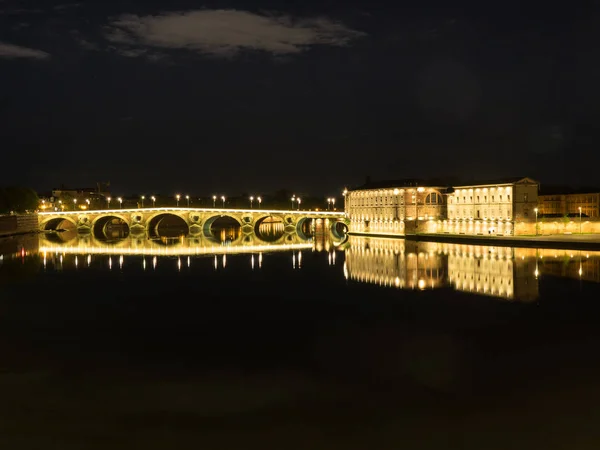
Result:
{"type": "MultiPolygon", "coordinates": [[[[560,276],[579,275],[575,262],[560,269],[545,262],[541,264],[544,253],[551,253],[555,259],[560,258],[559,255],[563,260],[575,261],[573,258],[576,258],[575,254],[569,256],[573,252],[564,250],[352,236],[346,248],[345,274],[350,280],[400,289],[451,287],[492,297],[532,301],[539,296],[538,281],[542,274],[560,270],[560,276]]],[[[588,274],[586,279],[600,282],[600,252],[586,255],[587,258],[578,260],[582,266],[581,276],[585,273],[588,274]]]]}

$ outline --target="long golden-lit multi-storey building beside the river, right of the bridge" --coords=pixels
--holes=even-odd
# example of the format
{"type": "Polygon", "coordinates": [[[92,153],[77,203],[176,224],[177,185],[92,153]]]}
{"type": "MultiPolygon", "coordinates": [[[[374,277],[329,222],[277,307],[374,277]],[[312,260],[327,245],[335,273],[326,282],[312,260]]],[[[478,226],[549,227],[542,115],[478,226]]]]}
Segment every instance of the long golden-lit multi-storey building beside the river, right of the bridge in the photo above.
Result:
{"type": "Polygon", "coordinates": [[[349,231],[407,235],[448,233],[511,236],[516,222],[534,222],[539,183],[531,178],[460,186],[367,183],[346,194],[349,231]]]}

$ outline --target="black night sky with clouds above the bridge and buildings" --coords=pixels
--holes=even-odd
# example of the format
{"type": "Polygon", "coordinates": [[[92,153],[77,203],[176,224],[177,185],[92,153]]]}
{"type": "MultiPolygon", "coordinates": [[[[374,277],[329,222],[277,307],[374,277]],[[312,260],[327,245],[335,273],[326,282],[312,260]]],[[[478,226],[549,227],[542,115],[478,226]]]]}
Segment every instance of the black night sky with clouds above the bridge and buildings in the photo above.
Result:
{"type": "Polygon", "coordinates": [[[0,184],[600,184],[599,2],[409,4],[0,0],[0,184]]]}

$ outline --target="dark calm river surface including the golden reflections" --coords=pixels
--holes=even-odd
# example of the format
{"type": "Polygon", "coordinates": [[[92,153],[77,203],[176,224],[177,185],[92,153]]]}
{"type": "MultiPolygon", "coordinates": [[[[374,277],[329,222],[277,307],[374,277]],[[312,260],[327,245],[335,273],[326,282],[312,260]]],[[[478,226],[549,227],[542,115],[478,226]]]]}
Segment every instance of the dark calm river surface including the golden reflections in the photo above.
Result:
{"type": "Polygon", "coordinates": [[[0,448],[600,447],[598,252],[226,244],[0,242],[0,448]]]}

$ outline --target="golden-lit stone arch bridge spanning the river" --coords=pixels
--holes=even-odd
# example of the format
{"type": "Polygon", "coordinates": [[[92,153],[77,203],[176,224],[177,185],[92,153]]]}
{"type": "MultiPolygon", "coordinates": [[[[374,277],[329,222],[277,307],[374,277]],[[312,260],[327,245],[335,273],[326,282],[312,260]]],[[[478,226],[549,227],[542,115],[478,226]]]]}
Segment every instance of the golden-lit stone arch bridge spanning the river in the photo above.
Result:
{"type": "Polygon", "coordinates": [[[212,237],[218,220],[239,225],[242,234],[259,231],[263,223],[277,224],[285,233],[304,237],[307,230],[323,230],[339,236],[346,229],[343,212],[217,208],[135,208],[83,211],[54,211],[38,214],[41,230],[77,229],[109,237],[111,229],[125,229],[132,235],[160,236],[161,226],[177,227],[185,234],[212,237]]]}

